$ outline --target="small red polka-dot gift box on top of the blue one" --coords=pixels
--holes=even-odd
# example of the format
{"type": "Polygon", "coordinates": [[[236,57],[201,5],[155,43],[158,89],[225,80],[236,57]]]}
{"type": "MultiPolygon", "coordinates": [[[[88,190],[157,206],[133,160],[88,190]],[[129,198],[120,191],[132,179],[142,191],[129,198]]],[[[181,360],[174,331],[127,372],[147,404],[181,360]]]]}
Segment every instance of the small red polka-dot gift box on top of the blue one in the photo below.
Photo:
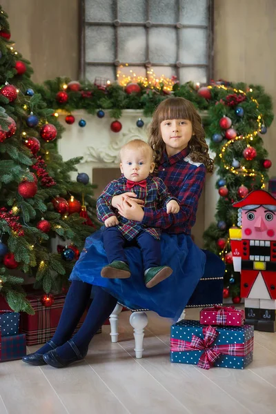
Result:
{"type": "Polygon", "coordinates": [[[243,309],[235,309],[234,306],[218,306],[203,308],[200,311],[201,325],[215,326],[242,326],[245,322],[243,309]]]}

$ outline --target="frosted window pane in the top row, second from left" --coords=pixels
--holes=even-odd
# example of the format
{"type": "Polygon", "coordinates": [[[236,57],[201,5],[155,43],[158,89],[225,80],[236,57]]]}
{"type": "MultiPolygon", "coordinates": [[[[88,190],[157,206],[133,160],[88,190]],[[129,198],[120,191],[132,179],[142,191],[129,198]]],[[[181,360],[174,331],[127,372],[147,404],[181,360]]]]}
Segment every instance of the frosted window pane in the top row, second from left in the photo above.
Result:
{"type": "Polygon", "coordinates": [[[143,23],[146,21],[145,0],[118,0],[119,21],[143,23]]]}

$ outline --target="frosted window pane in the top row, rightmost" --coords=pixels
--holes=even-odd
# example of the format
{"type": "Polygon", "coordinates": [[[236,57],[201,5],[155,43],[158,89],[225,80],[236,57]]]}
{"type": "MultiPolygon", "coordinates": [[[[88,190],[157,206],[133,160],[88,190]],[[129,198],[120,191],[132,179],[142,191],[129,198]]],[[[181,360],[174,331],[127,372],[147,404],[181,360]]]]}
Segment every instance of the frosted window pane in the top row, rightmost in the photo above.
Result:
{"type": "Polygon", "coordinates": [[[180,22],[207,25],[207,0],[180,0],[180,22]]]}

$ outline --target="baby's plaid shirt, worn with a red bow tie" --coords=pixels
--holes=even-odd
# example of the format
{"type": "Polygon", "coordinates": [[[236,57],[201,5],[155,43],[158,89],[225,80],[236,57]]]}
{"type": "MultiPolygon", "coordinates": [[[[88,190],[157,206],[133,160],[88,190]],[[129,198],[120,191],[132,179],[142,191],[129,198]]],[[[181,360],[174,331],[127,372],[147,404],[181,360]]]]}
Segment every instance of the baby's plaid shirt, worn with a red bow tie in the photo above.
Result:
{"type": "Polygon", "coordinates": [[[159,208],[166,212],[166,204],[168,204],[168,201],[175,199],[175,197],[170,196],[164,182],[159,177],[148,177],[146,179],[146,188],[140,187],[137,183],[137,185],[130,189],[127,187],[126,181],[126,177],[122,175],[119,179],[111,181],[103,190],[97,199],[98,219],[104,223],[108,217],[116,215],[119,221],[117,228],[128,240],[134,239],[141,230],[150,233],[155,239],[160,239],[161,228],[159,226],[153,226],[154,228],[152,228],[151,225],[128,220],[116,214],[116,210],[111,205],[112,197],[126,193],[126,191],[132,191],[137,195],[137,198],[145,201],[144,206],[152,212],[156,212],[159,208]]]}

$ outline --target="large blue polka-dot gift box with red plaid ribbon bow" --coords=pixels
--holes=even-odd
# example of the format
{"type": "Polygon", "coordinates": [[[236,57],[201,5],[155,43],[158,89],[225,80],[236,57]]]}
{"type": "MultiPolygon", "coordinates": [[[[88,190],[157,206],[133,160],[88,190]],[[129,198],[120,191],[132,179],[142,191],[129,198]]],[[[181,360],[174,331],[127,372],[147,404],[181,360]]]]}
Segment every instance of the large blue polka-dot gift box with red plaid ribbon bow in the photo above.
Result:
{"type": "Polygon", "coordinates": [[[244,369],[253,360],[254,327],[203,326],[182,320],[171,326],[170,361],[244,369]]]}

